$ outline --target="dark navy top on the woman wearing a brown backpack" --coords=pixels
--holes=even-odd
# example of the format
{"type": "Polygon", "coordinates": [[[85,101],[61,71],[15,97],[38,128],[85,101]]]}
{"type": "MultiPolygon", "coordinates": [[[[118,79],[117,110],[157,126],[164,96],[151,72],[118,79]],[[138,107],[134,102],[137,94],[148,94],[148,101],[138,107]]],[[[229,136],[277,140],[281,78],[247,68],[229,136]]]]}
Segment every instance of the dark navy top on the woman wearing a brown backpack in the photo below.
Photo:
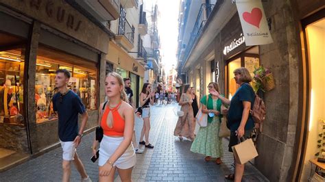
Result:
{"type": "MultiPolygon", "coordinates": [[[[255,101],[255,92],[248,83],[243,83],[237,92],[232,96],[230,107],[228,110],[227,127],[230,131],[236,131],[241,124],[241,116],[243,116],[243,101],[251,103],[253,108],[255,101]]],[[[245,130],[254,128],[254,120],[252,115],[248,115],[248,120],[245,125],[245,130]]]]}

